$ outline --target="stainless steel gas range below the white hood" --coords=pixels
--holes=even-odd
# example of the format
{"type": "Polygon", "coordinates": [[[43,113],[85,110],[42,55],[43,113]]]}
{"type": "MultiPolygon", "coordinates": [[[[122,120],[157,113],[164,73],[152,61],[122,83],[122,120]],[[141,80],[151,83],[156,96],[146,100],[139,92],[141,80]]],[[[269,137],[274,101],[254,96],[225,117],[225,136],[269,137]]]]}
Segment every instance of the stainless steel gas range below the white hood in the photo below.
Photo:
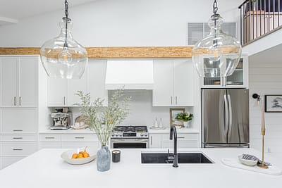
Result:
{"type": "Polygon", "coordinates": [[[111,148],[147,148],[147,126],[116,126],[111,134],[111,148]]]}

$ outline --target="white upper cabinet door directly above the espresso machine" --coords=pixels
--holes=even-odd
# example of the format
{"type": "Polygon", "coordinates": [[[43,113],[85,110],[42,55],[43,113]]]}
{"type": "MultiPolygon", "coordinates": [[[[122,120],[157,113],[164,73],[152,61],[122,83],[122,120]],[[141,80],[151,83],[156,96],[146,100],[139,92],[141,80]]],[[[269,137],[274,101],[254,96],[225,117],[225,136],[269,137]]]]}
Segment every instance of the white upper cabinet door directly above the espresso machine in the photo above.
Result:
{"type": "Polygon", "coordinates": [[[47,87],[48,106],[66,106],[68,94],[68,80],[48,77],[47,87]]]}

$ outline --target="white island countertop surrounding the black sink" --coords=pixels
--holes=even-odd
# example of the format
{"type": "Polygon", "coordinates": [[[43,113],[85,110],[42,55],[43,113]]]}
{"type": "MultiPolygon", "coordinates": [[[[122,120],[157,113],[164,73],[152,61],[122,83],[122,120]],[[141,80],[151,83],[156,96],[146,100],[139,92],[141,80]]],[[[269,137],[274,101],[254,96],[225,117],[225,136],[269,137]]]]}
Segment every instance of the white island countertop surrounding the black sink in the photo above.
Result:
{"type": "MultiPolygon", "coordinates": [[[[0,170],[1,187],[11,188],[280,188],[281,175],[264,175],[230,168],[221,158],[236,158],[242,153],[260,156],[253,149],[183,149],[202,151],[212,164],[142,164],[141,151],[166,149],[121,149],[121,162],[111,163],[111,169],[98,172],[96,160],[85,165],[69,165],[61,159],[66,149],[42,149],[13,165],[0,170]]],[[[282,168],[280,161],[266,155],[266,161],[282,168]]]]}

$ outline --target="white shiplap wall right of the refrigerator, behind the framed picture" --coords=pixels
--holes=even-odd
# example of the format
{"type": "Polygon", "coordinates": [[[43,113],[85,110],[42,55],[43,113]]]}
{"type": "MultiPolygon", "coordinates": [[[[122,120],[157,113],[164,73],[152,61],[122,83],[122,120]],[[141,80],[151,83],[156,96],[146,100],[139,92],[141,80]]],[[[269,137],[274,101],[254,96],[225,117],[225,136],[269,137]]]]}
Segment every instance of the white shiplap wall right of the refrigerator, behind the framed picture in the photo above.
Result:
{"type": "MultiPolygon", "coordinates": [[[[252,94],[282,94],[281,46],[269,49],[249,59],[250,144],[261,150],[261,110],[252,94]]],[[[265,113],[265,151],[282,157],[282,113],[265,113]]]]}

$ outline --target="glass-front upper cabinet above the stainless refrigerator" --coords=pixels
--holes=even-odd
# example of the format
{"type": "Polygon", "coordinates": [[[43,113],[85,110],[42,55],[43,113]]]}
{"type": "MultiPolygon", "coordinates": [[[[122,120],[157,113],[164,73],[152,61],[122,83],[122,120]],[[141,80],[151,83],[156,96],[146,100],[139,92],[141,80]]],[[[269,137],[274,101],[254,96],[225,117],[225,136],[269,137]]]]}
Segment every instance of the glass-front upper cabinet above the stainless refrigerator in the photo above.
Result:
{"type": "MultiPolygon", "coordinates": [[[[226,87],[248,87],[248,57],[242,56],[234,73],[227,77],[226,87]]],[[[204,77],[202,78],[202,87],[220,88],[223,77],[204,77]]]]}

